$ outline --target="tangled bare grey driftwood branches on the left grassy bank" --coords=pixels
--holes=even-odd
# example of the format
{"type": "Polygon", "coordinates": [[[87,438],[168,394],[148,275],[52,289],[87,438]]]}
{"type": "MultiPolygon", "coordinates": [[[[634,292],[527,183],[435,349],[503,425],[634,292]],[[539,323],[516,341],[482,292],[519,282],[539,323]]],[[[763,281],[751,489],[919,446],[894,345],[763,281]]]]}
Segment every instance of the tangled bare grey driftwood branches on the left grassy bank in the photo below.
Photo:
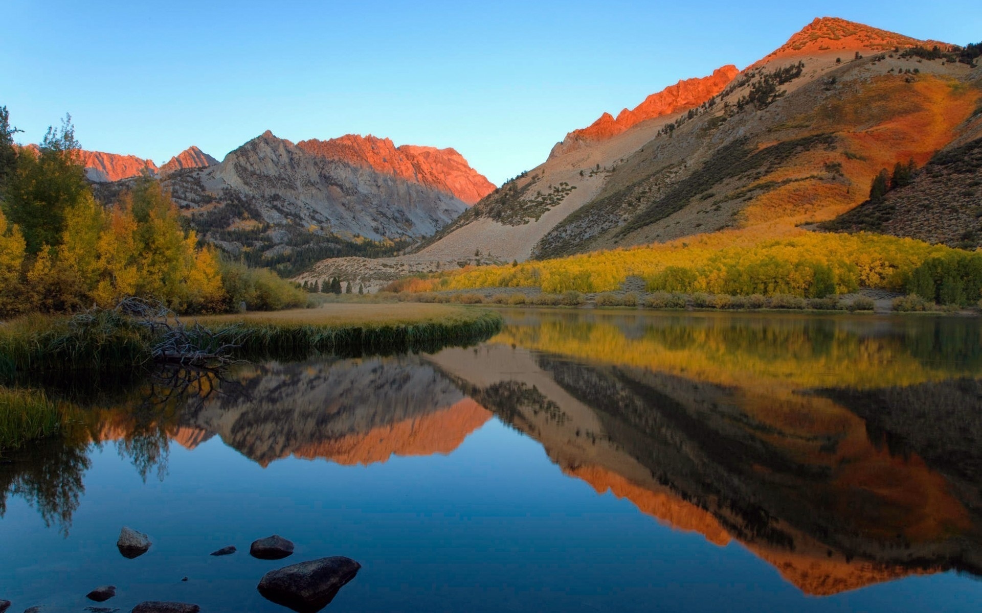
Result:
{"type": "Polygon", "coordinates": [[[238,327],[213,332],[197,321],[189,325],[162,302],[142,298],[125,298],[115,311],[150,332],[155,362],[207,368],[236,362],[232,355],[240,346],[238,327]]]}

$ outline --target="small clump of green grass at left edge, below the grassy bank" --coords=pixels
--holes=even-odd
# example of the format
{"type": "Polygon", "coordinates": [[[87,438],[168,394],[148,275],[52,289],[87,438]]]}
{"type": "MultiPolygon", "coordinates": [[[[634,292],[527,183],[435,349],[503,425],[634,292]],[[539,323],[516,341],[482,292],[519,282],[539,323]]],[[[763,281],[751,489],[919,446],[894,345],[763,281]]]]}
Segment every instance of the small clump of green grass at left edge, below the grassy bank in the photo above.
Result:
{"type": "Polygon", "coordinates": [[[43,391],[0,387],[0,453],[57,433],[64,411],[43,391]]]}

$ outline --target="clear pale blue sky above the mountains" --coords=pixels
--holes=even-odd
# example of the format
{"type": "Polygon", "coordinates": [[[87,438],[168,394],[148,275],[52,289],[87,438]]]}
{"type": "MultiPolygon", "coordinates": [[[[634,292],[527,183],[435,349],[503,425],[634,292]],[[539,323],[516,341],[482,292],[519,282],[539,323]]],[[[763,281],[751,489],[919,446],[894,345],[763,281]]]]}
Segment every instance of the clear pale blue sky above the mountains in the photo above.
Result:
{"type": "Polygon", "coordinates": [[[496,183],[604,111],[743,68],[815,17],[982,39],[977,0],[127,2],[2,0],[0,105],[36,142],[221,159],[265,129],[454,147],[496,183]]]}

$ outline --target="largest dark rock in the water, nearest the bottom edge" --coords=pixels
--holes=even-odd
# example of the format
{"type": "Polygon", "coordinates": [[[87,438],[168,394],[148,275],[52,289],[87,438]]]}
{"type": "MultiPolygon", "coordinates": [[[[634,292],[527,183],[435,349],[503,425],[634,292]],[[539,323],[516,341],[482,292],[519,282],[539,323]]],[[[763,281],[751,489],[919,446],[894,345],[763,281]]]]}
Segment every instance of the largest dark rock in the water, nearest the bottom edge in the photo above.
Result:
{"type": "Polygon", "coordinates": [[[259,582],[259,593],[299,613],[314,613],[330,604],[360,568],[355,560],[340,555],[300,562],[266,573],[259,582]]]}

